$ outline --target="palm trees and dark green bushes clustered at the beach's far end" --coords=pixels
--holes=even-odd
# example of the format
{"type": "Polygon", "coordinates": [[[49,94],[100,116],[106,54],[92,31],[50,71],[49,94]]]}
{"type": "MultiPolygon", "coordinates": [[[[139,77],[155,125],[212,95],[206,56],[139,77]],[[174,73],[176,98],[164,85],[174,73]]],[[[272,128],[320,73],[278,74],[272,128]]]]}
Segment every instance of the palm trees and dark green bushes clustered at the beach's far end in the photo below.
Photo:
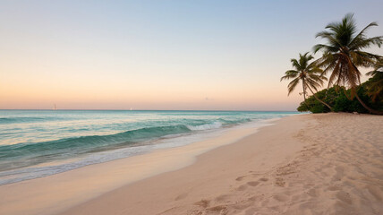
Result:
{"type": "MultiPolygon", "coordinates": [[[[326,43],[315,45],[313,52],[315,54],[322,51],[322,56],[311,64],[305,64],[312,68],[311,73],[315,75],[313,79],[315,82],[307,78],[308,67],[302,68],[302,64],[297,64],[301,66],[297,67],[292,59],[293,66],[297,70],[285,72],[281,81],[294,79],[288,85],[290,94],[299,80],[302,80],[304,100],[298,107],[298,111],[383,114],[383,72],[380,71],[383,68],[383,56],[363,50],[372,46],[380,47],[383,44],[383,36],[368,38],[365,35],[366,30],[377,25],[376,22],[371,22],[357,33],[353,14],[346,14],[341,22],[329,23],[326,30],[319,32],[317,38],[325,39],[326,43]],[[370,80],[362,84],[362,73],[359,71],[361,67],[375,68],[368,73],[372,75],[370,80]],[[325,75],[328,73],[328,89],[317,92],[323,80],[327,80],[325,75]],[[308,99],[306,99],[306,89],[309,89],[312,94],[308,99]]],[[[308,56],[308,53],[300,57],[306,57],[306,63],[313,58],[308,56]]]]}

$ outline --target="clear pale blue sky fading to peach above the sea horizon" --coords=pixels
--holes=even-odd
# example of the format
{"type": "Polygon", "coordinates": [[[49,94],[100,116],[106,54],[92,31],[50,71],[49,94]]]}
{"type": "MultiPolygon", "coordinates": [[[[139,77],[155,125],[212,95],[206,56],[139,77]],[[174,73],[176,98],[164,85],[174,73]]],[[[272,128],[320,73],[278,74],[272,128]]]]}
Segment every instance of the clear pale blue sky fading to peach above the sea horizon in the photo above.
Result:
{"type": "Polygon", "coordinates": [[[378,22],[368,36],[383,35],[382,7],[0,0],[0,109],[295,110],[302,90],[287,97],[279,81],[290,59],[346,13],[359,30],[378,22]]]}

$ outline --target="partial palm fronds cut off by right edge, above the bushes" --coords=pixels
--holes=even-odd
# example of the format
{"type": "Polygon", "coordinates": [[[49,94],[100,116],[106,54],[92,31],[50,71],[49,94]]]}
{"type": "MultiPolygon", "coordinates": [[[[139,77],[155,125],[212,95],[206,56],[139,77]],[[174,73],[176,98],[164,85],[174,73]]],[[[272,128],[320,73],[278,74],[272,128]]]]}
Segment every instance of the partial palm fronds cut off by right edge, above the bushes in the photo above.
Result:
{"type": "Polygon", "coordinates": [[[379,96],[383,99],[383,59],[375,65],[373,71],[366,74],[372,76],[369,80],[370,85],[367,88],[367,95],[371,97],[373,102],[379,96]]]}

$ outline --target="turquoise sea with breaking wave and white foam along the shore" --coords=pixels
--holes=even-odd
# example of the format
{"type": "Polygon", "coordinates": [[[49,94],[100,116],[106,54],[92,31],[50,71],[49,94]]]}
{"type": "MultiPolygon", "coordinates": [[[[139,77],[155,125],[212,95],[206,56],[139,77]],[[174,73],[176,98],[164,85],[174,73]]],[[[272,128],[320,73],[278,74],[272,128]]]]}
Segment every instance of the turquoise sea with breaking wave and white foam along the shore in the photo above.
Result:
{"type": "Polygon", "coordinates": [[[197,142],[298,112],[0,110],[0,185],[197,142]]]}

